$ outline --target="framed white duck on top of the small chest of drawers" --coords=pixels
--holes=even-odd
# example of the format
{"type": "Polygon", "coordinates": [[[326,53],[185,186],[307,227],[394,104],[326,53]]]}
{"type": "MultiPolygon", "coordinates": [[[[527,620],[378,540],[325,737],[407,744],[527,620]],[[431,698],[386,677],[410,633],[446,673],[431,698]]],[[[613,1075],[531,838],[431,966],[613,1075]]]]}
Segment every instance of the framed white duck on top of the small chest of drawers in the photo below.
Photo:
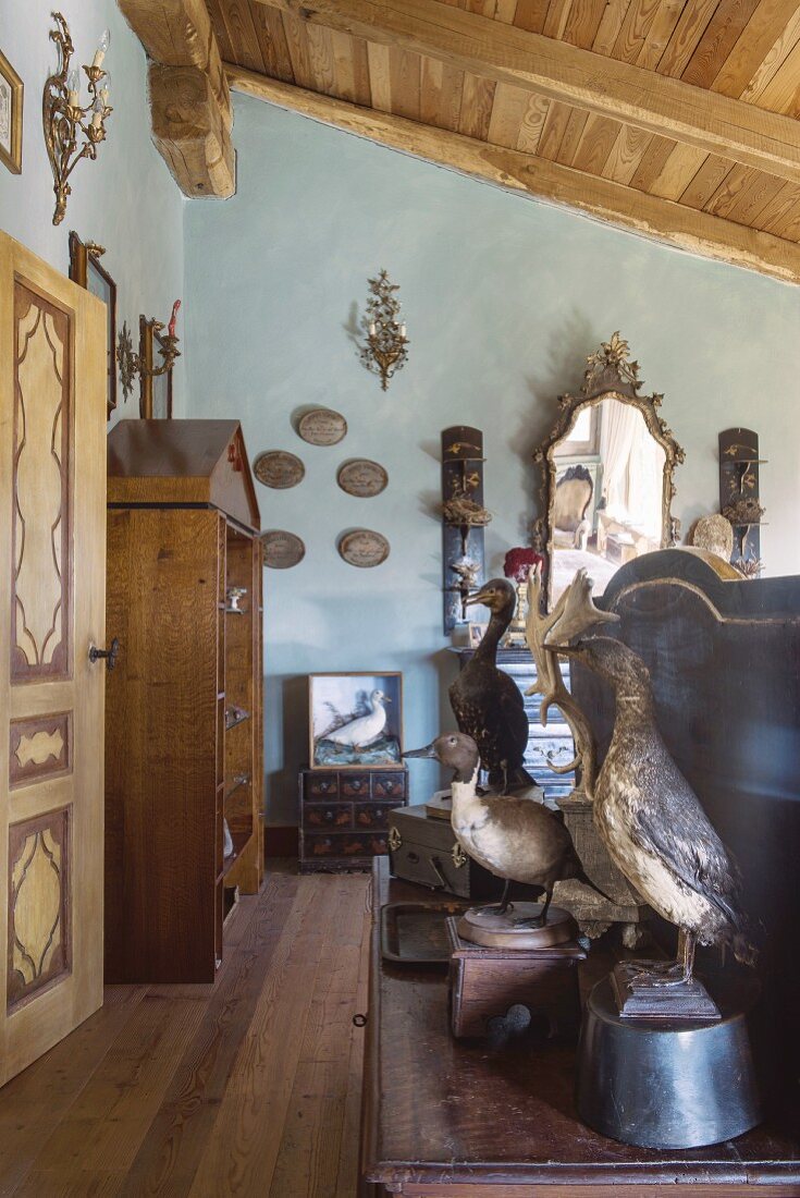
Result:
{"type": "Polygon", "coordinates": [[[402,764],[402,674],[309,674],[311,769],[396,769],[402,764]]]}

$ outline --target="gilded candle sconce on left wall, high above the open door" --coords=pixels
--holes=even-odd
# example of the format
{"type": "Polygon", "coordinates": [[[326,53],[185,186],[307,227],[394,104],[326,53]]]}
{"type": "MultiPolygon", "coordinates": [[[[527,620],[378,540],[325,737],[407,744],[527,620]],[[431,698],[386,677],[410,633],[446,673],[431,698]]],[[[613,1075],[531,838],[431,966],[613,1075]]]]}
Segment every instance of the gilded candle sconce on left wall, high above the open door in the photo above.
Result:
{"type": "Polygon", "coordinates": [[[113,109],[108,102],[110,75],[103,69],[103,60],[110,34],[103,31],[91,66],[84,66],[90,96],[90,103],[84,108],[80,103],[80,72],[69,66],[74,54],[69,29],[60,12],[54,12],[53,19],[55,29],[50,30],[50,41],[59,47],[60,63],[44,84],[42,123],[54,180],[53,224],[61,224],[72,190],[69,175],[81,158],[97,158],[97,146],[105,140],[105,120],[113,109]],[[83,144],[79,145],[81,138],[83,144]]]}

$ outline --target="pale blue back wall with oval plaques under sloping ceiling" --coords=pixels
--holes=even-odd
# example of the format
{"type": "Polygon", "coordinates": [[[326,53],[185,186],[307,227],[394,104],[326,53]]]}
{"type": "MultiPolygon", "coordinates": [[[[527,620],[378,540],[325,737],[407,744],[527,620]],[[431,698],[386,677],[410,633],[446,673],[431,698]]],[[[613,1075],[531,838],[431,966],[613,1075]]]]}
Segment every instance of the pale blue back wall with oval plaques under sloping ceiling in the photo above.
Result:
{"type": "MultiPolygon", "coordinates": [[[[770,573],[800,570],[800,292],[568,212],[462,179],[250,98],[236,102],[238,192],[186,216],[189,415],[240,417],[250,456],[291,449],[305,480],[259,486],[263,527],[308,552],[267,570],[265,659],[268,819],[296,812],[305,754],[304,676],[405,673],[406,743],[451,724],[453,673],[441,627],[440,431],[485,431],[489,564],[525,540],[533,446],[556,395],[580,385],[588,352],[617,328],[686,448],[677,476],[684,528],[716,508],[722,428],[762,435],[770,573]],[[401,285],[411,361],[384,395],[347,328],[366,278],[401,285]],[[339,447],[305,446],[291,416],[344,412],[339,447]],[[354,500],[335,483],[346,458],[375,458],[390,485],[354,500]],[[392,541],[375,570],[337,555],[346,528],[392,541]]],[[[416,795],[434,775],[413,772],[416,795]]]]}

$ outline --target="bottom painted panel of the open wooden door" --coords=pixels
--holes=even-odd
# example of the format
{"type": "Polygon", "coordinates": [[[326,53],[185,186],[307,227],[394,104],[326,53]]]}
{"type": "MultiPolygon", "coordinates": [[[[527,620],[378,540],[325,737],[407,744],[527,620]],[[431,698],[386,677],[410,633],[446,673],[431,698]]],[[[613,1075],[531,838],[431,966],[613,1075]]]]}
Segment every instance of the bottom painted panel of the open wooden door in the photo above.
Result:
{"type": "Polygon", "coordinates": [[[7,1009],[69,974],[69,809],[8,828],[7,1009]]]}

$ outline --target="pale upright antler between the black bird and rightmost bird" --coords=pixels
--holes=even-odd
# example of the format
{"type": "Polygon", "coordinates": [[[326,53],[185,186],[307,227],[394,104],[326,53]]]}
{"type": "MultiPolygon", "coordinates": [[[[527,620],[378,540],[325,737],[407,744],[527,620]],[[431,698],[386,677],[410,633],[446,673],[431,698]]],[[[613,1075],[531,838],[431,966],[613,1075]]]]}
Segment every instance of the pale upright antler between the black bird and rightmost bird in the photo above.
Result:
{"type": "Polygon", "coordinates": [[[577,571],[569,587],[562,592],[553,610],[543,616],[539,611],[541,595],[541,563],[528,575],[528,615],[526,618],[526,640],[533,660],[537,664],[537,682],[527,691],[528,695],[541,695],[539,718],[543,727],[547,727],[547,712],[554,703],[566,720],[575,740],[576,756],[568,766],[550,768],[556,774],[569,774],[581,767],[581,786],[589,799],[594,799],[594,782],[598,773],[596,749],[592,727],[586,715],[572,698],[558,665],[558,654],[547,648],[549,645],[566,645],[568,641],[588,631],[595,624],[616,622],[619,616],[600,611],[592,599],[594,582],[587,571],[577,571]]]}

